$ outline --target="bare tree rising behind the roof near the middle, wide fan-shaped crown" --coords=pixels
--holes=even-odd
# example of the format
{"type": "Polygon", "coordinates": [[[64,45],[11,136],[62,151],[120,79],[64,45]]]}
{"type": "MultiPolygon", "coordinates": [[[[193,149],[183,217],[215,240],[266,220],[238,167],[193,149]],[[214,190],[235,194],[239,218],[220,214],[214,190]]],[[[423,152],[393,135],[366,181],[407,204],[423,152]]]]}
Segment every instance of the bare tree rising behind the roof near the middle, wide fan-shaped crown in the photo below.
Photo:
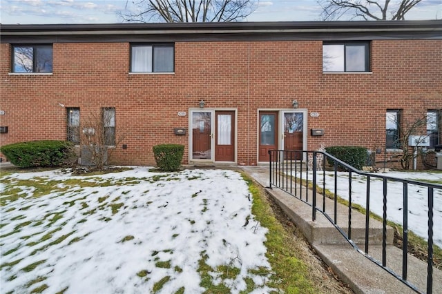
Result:
{"type": "Polygon", "coordinates": [[[256,9],[256,0],[126,0],[124,21],[228,22],[240,21],[256,9]]]}

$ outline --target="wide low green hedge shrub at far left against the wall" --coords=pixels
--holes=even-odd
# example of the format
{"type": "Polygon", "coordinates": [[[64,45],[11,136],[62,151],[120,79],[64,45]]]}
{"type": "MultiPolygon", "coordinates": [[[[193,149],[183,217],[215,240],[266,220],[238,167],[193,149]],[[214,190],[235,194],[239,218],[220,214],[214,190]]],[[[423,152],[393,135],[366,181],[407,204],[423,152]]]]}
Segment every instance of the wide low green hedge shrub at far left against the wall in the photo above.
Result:
{"type": "Polygon", "coordinates": [[[73,155],[73,144],[68,141],[42,140],[8,144],[0,147],[1,153],[15,166],[62,166],[73,155]]]}

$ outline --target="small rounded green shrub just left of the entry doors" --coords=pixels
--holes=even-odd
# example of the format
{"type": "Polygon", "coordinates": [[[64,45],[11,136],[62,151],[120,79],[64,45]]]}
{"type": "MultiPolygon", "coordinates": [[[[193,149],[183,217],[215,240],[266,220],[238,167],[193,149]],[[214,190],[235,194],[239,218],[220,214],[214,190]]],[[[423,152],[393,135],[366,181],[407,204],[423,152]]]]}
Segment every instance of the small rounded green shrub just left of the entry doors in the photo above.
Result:
{"type": "Polygon", "coordinates": [[[163,171],[175,171],[181,166],[184,145],[160,144],[153,146],[153,156],[158,168],[163,171]]]}

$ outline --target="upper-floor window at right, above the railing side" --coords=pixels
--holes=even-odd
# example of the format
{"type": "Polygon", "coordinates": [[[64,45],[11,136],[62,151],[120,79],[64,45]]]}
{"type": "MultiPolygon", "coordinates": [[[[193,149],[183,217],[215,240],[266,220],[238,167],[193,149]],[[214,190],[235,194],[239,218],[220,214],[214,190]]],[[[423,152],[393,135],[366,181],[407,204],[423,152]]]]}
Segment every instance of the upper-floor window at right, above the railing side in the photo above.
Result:
{"type": "Polygon", "coordinates": [[[369,42],[323,43],[323,72],[369,72],[369,42]]]}

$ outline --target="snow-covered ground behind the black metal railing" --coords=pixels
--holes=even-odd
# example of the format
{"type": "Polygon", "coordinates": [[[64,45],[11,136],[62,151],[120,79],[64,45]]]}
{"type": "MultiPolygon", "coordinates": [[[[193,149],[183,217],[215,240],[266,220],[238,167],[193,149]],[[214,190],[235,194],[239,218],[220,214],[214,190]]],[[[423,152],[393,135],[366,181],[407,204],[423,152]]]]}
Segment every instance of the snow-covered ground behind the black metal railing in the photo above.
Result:
{"type": "MultiPolygon", "coordinates": [[[[323,172],[317,172],[318,186],[323,186],[323,172]]],[[[334,191],[334,172],[325,172],[325,188],[334,191]]],[[[383,173],[387,177],[442,182],[442,173],[383,173]]],[[[305,173],[302,175],[305,178],[305,173]]],[[[309,173],[309,179],[312,179],[309,173]]],[[[366,207],[366,177],[352,173],[352,202],[366,207]]],[[[338,172],[338,196],[348,200],[348,173],[338,172]]],[[[383,181],[371,178],[369,209],[372,213],[383,215],[383,181]]],[[[442,248],[442,189],[434,189],[433,200],[433,242],[442,248]]],[[[403,224],[403,184],[387,181],[387,219],[403,224]]],[[[428,236],[428,197],[427,188],[408,185],[408,228],[416,235],[427,240],[428,236]]]]}

